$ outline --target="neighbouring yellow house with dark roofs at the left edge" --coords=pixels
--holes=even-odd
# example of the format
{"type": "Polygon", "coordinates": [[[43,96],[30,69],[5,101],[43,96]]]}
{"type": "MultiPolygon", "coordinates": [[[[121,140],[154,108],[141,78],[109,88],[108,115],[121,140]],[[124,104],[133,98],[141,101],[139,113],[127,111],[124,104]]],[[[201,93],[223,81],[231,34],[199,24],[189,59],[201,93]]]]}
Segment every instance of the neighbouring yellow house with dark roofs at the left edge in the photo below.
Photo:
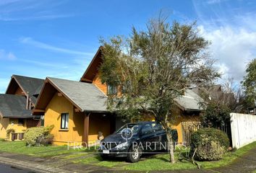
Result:
{"type": "Polygon", "coordinates": [[[42,86],[43,79],[12,76],[6,94],[0,94],[0,138],[7,138],[7,130],[13,129],[12,140],[22,139],[27,128],[40,125],[32,109],[42,86]]]}

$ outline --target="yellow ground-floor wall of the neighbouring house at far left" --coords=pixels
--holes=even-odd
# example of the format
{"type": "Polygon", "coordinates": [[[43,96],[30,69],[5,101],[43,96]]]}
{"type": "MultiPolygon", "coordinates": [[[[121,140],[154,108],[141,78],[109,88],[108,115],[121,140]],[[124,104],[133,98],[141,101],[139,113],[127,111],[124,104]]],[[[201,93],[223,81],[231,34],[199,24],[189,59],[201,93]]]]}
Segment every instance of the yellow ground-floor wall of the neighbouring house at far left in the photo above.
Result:
{"type": "Polygon", "coordinates": [[[1,118],[0,119],[0,138],[7,138],[7,130],[14,129],[15,133],[24,133],[27,130],[27,123],[24,119],[24,124],[19,125],[17,118],[1,118]],[[13,122],[13,125],[12,125],[13,122]]]}

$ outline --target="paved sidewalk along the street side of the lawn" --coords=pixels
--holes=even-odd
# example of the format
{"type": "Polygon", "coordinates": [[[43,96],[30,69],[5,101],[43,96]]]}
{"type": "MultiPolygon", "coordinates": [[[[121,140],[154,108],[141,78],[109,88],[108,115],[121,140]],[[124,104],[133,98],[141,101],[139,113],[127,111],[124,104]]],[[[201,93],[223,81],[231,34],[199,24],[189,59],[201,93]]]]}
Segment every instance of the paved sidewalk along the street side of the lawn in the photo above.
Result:
{"type": "MultiPolygon", "coordinates": [[[[22,154],[10,154],[0,152],[0,163],[9,164],[17,167],[25,167],[35,172],[134,172],[124,171],[118,167],[108,168],[93,166],[91,164],[74,164],[72,161],[66,161],[56,158],[38,158],[22,154]]],[[[236,159],[232,164],[226,167],[218,167],[214,169],[188,169],[176,171],[161,172],[252,172],[256,170],[256,148],[250,150],[247,154],[236,159]]],[[[155,171],[157,172],[157,171],[155,171]]]]}

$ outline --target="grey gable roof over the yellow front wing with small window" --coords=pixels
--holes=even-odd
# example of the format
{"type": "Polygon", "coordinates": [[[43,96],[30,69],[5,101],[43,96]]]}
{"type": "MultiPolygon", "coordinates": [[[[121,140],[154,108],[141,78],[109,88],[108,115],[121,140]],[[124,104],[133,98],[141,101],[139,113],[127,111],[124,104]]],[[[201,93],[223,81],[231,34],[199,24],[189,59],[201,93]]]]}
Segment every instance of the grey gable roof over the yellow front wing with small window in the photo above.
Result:
{"type": "Polygon", "coordinates": [[[107,97],[94,84],[47,77],[33,114],[44,110],[56,92],[63,94],[81,112],[107,112],[107,97]]]}

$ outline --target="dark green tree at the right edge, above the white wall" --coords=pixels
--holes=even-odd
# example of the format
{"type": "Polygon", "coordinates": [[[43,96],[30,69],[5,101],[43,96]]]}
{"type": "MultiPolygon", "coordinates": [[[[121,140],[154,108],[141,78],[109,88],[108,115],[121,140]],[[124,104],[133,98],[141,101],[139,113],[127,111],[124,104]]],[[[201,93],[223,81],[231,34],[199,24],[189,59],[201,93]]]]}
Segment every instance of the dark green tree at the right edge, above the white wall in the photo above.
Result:
{"type": "Polygon", "coordinates": [[[242,85],[244,86],[247,103],[252,107],[256,104],[256,58],[248,63],[246,73],[242,85]]]}

